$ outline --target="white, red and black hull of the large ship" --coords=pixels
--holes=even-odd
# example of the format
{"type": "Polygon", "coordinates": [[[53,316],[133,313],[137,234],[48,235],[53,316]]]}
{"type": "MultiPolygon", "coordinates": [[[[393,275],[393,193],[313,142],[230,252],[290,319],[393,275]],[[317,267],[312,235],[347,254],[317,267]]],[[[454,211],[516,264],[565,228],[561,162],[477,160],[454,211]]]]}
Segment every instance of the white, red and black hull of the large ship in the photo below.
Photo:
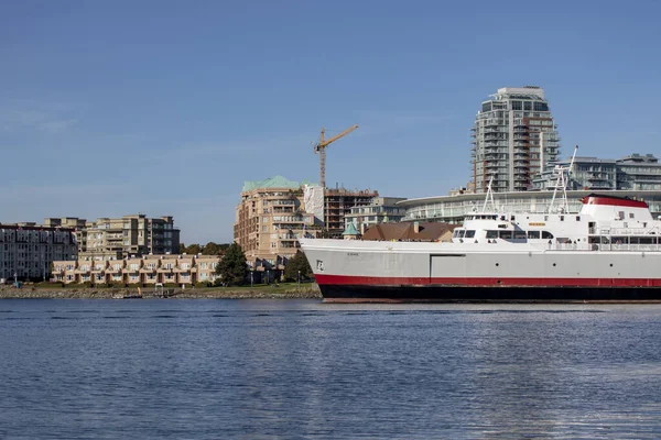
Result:
{"type": "Polygon", "coordinates": [[[300,241],[332,301],[661,300],[652,246],[300,241]]]}

